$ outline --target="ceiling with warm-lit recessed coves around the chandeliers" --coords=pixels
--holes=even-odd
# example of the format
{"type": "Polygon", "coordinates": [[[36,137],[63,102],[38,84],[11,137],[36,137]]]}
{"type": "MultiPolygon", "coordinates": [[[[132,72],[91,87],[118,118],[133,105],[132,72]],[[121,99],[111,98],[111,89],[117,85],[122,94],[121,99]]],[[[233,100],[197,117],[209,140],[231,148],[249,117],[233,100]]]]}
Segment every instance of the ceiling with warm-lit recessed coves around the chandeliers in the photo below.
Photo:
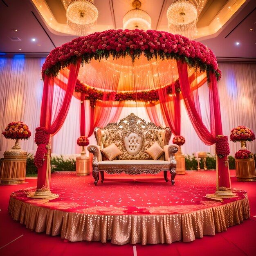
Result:
{"type": "MultiPolygon", "coordinates": [[[[65,23],[65,8],[61,5],[61,0],[36,0],[38,3],[42,1],[48,2],[49,7],[53,5],[53,16],[58,22],[65,23]]],[[[54,31],[33,2],[35,1],[0,0],[2,54],[47,55],[55,47],[78,37],[54,31]],[[10,37],[18,37],[20,40],[13,41],[10,37]],[[36,40],[33,42],[32,38],[36,40]]],[[[167,29],[166,10],[171,2],[173,0],[141,0],[140,9],[150,15],[152,29],[167,29]]],[[[205,0],[204,9],[198,17],[198,30],[209,25],[227,2],[236,1],[205,0]]],[[[94,0],[94,4],[99,10],[98,31],[121,28],[124,14],[132,9],[132,0],[94,0]]],[[[219,59],[256,61],[255,17],[256,1],[247,0],[217,33],[195,40],[207,45],[219,59]]]]}

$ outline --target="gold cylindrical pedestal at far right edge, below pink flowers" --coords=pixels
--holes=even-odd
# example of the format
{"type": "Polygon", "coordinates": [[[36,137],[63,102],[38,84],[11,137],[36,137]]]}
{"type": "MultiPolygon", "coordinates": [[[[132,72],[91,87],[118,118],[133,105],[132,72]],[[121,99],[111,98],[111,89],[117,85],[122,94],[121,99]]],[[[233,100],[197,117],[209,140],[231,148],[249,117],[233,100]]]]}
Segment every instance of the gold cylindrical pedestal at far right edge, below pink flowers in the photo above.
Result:
{"type": "Polygon", "coordinates": [[[236,159],[236,177],[238,181],[256,181],[254,158],[236,159]]]}

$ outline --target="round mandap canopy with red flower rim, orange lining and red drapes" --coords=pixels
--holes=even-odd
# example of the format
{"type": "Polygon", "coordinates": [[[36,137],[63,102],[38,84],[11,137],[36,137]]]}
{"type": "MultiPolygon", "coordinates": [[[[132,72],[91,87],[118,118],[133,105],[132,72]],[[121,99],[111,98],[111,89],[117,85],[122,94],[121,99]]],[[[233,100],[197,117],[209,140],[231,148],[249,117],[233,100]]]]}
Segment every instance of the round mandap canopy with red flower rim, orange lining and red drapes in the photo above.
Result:
{"type": "MultiPolygon", "coordinates": [[[[47,56],[42,67],[44,80],[40,132],[45,137],[61,128],[70,106],[72,95],[90,101],[90,120],[85,122],[81,108],[81,135],[85,123],[90,124],[87,136],[102,118],[113,116],[127,101],[143,101],[150,118],[157,124],[154,106],[159,104],[164,121],[175,135],[180,135],[180,99],[184,103],[200,139],[214,144],[222,135],[217,81],[221,72],[216,56],[202,43],[180,35],[154,30],[108,30],[79,37],[47,56]],[[205,81],[209,85],[211,130],[202,122],[197,89],[205,81]],[[62,88],[55,92],[54,85],[62,88]],[[75,92],[74,92],[75,91],[75,92]],[[56,101],[58,97],[58,101],[56,101]]],[[[38,133],[39,134],[39,133],[38,133]]],[[[36,141],[36,139],[35,139],[36,141]]],[[[45,140],[49,144],[49,140],[45,140]]],[[[39,141],[36,141],[40,144],[39,141]]],[[[39,147],[38,147],[39,148],[39,147]]],[[[43,147],[45,156],[47,150],[43,147]]],[[[39,150],[40,151],[40,150],[39,150]]],[[[44,154],[37,151],[38,190],[49,190],[50,172],[44,154]]],[[[222,156],[220,163],[224,168],[222,156]]],[[[49,157],[48,157],[49,158],[49,157]]],[[[220,186],[229,187],[229,174],[223,171],[220,186]]]]}

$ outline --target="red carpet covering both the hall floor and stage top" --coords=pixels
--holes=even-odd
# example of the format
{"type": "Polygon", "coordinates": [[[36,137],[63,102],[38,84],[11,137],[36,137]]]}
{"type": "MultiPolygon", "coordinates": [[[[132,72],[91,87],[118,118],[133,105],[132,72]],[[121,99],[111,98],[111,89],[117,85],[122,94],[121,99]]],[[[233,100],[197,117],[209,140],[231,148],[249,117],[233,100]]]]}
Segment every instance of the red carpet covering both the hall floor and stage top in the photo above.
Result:
{"type": "MultiPolygon", "coordinates": [[[[82,205],[83,209],[93,209],[97,206],[102,208],[101,211],[106,211],[105,205],[110,205],[116,207],[119,214],[119,208],[124,205],[128,212],[144,212],[148,211],[149,206],[152,208],[159,204],[156,211],[159,211],[160,205],[162,205],[173,206],[171,210],[175,212],[177,206],[185,206],[185,210],[187,210],[186,207],[193,207],[193,205],[198,205],[206,200],[204,195],[215,191],[215,175],[215,171],[187,172],[186,175],[176,176],[175,186],[164,182],[162,175],[159,176],[159,180],[156,180],[155,176],[146,176],[146,178],[154,178],[152,181],[141,180],[142,176],[126,176],[129,179],[134,178],[136,182],[128,180],[122,183],[112,181],[112,176],[110,176],[111,181],[107,181],[109,177],[106,175],[106,181],[103,184],[94,186],[92,176],[76,177],[74,174],[54,174],[52,192],[58,193],[60,198],[65,195],[65,200],[69,205],[73,205],[73,210],[77,209],[77,204],[82,205]],[[60,186],[61,190],[57,186],[60,186]],[[92,192],[88,191],[88,187],[92,187],[92,192]],[[143,189],[144,197],[141,195],[140,189],[143,189]],[[163,191],[168,191],[168,193],[162,193],[163,191]],[[73,196],[74,193],[77,193],[77,197],[73,196]],[[103,202],[103,197],[106,194],[108,202],[103,202]]],[[[0,249],[0,255],[135,255],[134,247],[130,244],[118,246],[100,242],[65,242],[59,236],[52,237],[31,232],[24,225],[13,221],[7,213],[9,195],[17,189],[36,186],[35,179],[26,181],[29,184],[0,186],[2,195],[0,200],[0,248],[3,247],[0,249]],[[22,234],[23,236],[18,238],[22,234]],[[7,245],[16,238],[18,239],[7,245]],[[40,248],[39,251],[38,248],[40,248]]],[[[136,244],[137,255],[168,255],[170,253],[171,255],[254,255],[256,249],[254,243],[256,183],[236,182],[235,177],[231,177],[231,182],[232,187],[247,191],[251,207],[251,220],[245,220],[241,225],[229,227],[227,232],[216,234],[216,236],[204,236],[202,239],[196,239],[190,243],[175,242],[171,245],[146,246],[136,244]]],[[[61,199],[58,202],[61,202],[61,199]]],[[[61,205],[52,207],[63,207],[62,203],[61,205]]],[[[164,208],[162,209],[166,211],[164,208]]]]}

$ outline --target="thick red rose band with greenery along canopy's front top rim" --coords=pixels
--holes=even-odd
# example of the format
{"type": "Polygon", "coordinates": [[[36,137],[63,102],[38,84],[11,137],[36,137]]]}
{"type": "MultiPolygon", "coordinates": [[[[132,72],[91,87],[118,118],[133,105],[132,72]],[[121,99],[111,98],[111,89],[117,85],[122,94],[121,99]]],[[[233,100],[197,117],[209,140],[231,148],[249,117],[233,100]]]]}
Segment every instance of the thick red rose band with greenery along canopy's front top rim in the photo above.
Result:
{"type": "Polygon", "coordinates": [[[163,31],[110,29],[73,39],[53,49],[43,64],[42,77],[44,79],[45,74],[56,76],[61,68],[69,63],[76,63],[81,56],[82,63],[90,63],[92,58],[100,60],[109,58],[110,54],[114,58],[128,55],[133,61],[141,54],[149,60],[154,57],[182,58],[190,66],[198,67],[201,71],[211,70],[217,80],[220,80],[221,76],[216,56],[200,42],[163,31]]]}

